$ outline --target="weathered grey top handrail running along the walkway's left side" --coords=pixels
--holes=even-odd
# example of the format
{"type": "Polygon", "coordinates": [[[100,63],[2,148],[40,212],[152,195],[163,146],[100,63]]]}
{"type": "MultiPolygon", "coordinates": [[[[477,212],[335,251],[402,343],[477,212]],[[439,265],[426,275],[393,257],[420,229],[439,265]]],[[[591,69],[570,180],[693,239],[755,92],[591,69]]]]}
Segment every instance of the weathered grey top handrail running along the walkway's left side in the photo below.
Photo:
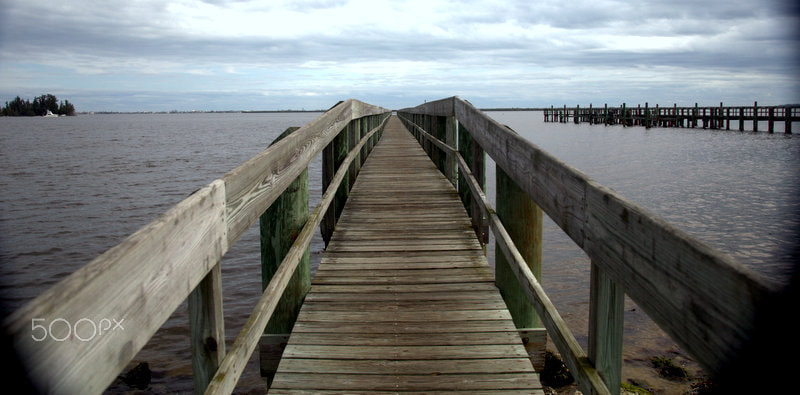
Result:
{"type": "Polygon", "coordinates": [[[222,347],[221,358],[221,257],[348,122],[388,112],[340,102],[6,317],[4,333],[35,384],[101,393],[190,293],[190,313],[203,315],[190,321],[210,326],[197,332],[222,347]],[[204,302],[215,305],[197,306],[204,302]]]}

